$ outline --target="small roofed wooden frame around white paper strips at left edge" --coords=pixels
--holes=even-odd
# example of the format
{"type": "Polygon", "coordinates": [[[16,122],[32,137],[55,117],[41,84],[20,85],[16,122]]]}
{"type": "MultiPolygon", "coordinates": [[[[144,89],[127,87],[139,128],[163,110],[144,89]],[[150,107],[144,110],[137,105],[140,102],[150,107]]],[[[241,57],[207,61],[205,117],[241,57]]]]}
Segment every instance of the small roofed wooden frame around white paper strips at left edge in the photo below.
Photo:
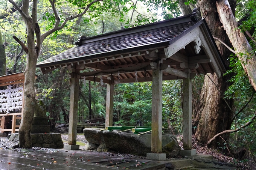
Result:
{"type": "MultiPolygon", "coordinates": [[[[8,74],[0,76],[0,87],[1,86],[8,86],[12,84],[19,84],[24,83],[24,74],[23,72],[14,73],[14,74],[8,74]]],[[[23,84],[24,89],[24,84],[23,84]]],[[[22,97],[22,101],[24,101],[24,96],[22,97]]],[[[12,133],[15,133],[15,131],[18,131],[20,125],[16,125],[16,119],[21,119],[23,114],[23,103],[22,103],[22,109],[20,113],[6,113],[6,114],[0,114],[1,118],[1,126],[0,126],[0,132],[4,131],[11,131],[12,133]],[[21,115],[20,117],[17,117],[18,115],[21,115]],[[5,116],[12,116],[12,128],[11,129],[5,129],[5,116]]]]}

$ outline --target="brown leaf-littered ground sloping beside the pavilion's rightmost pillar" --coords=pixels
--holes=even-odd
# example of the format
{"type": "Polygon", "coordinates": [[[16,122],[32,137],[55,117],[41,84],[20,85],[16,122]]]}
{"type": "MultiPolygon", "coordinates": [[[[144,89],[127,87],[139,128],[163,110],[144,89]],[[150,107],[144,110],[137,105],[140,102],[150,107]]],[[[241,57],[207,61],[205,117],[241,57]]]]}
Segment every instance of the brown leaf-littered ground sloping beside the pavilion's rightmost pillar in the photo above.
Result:
{"type": "MultiPolygon", "coordinates": [[[[180,146],[183,146],[183,136],[176,135],[178,143],[180,146]]],[[[225,155],[218,149],[208,148],[206,144],[201,144],[197,140],[195,140],[194,135],[192,136],[192,147],[197,150],[197,153],[202,153],[206,155],[212,155],[214,159],[225,162],[235,164],[238,169],[241,170],[256,170],[256,164],[250,160],[248,160],[245,156],[243,160],[237,160],[230,156],[225,155]]]]}

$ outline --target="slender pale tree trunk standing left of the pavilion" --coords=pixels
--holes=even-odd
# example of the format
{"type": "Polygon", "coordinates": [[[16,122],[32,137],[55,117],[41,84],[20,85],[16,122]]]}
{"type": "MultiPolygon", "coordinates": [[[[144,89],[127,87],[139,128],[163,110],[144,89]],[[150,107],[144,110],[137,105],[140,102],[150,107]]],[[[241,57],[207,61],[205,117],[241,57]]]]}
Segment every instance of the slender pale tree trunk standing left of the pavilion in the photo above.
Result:
{"type": "MultiPolygon", "coordinates": [[[[34,18],[28,18],[29,15],[29,0],[23,0],[22,12],[23,19],[27,28],[27,66],[24,71],[25,80],[24,80],[24,110],[23,117],[21,119],[20,128],[19,128],[19,141],[20,147],[31,148],[31,126],[34,117],[34,108],[37,104],[35,99],[35,69],[37,65],[38,53],[41,47],[41,41],[37,39],[37,46],[35,46],[35,33],[40,35],[40,29],[37,24],[37,16],[33,16],[34,18]],[[34,24],[33,24],[34,23],[34,24]]],[[[33,2],[33,8],[37,10],[37,0],[33,2]]],[[[33,11],[33,14],[36,11],[33,11]]],[[[35,14],[34,14],[35,15],[35,14]]]]}

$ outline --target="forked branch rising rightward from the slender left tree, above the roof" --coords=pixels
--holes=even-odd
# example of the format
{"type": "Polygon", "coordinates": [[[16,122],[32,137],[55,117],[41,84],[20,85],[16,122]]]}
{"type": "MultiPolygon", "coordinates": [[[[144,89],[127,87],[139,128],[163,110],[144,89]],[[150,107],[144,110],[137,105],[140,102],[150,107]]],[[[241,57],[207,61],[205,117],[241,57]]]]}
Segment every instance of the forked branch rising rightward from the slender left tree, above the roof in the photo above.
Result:
{"type": "MultiPolygon", "coordinates": [[[[89,4],[86,6],[86,8],[84,9],[84,11],[83,11],[82,13],[77,14],[77,15],[75,15],[75,16],[67,17],[67,18],[65,19],[65,21],[61,24],[61,26],[58,26],[58,24],[56,24],[56,23],[59,23],[60,20],[59,20],[59,21],[56,20],[56,23],[55,23],[55,26],[53,27],[53,29],[51,29],[51,30],[49,30],[49,31],[47,31],[46,33],[43,33],[43,34],[41,35],[41,42],[43,42],[44,39],[45,39],[47,36],[49,36],[50,34],[52,34],[53,32],[58,31],[58,30],[64,28],[64,26],[66,25],[67,21],[73,20],[74,18],[81,17],[82,15],[84,15],[84,14],[88,11],[88,9],[90,8],[91,5],[93,5],[93,4],[96,3],[96,2],[100,2],[100,1],[103,1],[103,0],[94,0],[93,2],[89,3],[89,4]]],[[[53,2],[52,2],[52,3],[53,3],[53,2]]],[[[54,8],[55,8],[55,7],[54,7],[54,8]]],[[[55,15],[55,17],[56,17],[56,15],[55,15]]]]}

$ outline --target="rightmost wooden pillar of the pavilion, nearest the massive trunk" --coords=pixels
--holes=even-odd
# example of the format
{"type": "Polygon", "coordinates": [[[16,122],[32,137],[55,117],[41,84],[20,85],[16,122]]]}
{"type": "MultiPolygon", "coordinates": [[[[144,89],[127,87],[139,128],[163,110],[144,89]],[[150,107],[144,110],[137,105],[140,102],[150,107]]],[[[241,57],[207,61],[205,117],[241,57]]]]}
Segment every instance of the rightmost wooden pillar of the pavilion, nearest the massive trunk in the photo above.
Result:
{"type": "Polygon", "coordinates": [[[183,79],[183,148],[192,149],[192,83],[190,73],[183,79]]]}

